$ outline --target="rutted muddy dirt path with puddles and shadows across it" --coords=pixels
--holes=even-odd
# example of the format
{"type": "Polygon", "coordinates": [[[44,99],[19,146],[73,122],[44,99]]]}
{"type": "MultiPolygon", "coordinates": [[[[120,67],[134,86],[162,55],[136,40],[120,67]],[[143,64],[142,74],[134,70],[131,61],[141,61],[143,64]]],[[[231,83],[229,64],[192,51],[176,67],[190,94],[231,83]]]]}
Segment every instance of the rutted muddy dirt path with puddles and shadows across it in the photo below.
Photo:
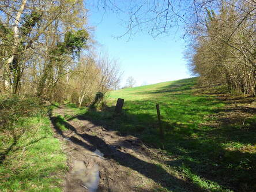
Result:
{"type": "Polygon", "coordinates": [[[68,130],[58,129],[57,115],[73,115],[69,108],[52,112],[56,137],[63,141],[69,158],[64,191],[195,191],[176,172],[161,166],[171,161],[133,136],[93,125],[86,119],[63,122],[68,130]]]}

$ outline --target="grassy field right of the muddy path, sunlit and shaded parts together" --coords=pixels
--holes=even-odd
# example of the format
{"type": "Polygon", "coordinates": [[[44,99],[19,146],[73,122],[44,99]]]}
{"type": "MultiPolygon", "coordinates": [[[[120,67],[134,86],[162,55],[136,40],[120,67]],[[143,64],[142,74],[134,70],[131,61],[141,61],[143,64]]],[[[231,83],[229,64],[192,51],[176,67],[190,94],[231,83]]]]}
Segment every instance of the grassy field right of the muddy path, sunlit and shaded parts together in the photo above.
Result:
{"type": "MultiPolygon", "coordinates": [[[[178,170],[206,191],[255,191],[256,132],[254,114],[243,121],[221,122],[227,102],[196,88],[197,78],[162,82],[112,91],[104,110],[76,108],[92,122],[121,134],[141,138],[174,158],[167,169],[178,170]],[[114,115],[118,98],[125,99],[122,115],[114,115]],[[160,104],[164,140],[157,123],[160,104]]],[[[71,108],[74,106],[70,106],[71,108]]],[[[171,182],[166,178],[166,182],[171,182]]]]}

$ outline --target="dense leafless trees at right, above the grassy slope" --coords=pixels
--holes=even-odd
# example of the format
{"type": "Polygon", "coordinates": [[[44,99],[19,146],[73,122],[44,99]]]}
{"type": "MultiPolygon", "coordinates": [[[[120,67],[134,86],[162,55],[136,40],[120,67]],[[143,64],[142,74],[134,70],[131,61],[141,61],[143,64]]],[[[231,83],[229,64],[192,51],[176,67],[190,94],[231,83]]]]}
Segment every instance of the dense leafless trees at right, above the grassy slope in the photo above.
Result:
{"type": "Polygon", "coordinates": [[[229,90],[255,95],[255,10],[250,2],[236,0],[207,10],[189,50],[190,66],[201,81],[221,82],[229,90]]]}

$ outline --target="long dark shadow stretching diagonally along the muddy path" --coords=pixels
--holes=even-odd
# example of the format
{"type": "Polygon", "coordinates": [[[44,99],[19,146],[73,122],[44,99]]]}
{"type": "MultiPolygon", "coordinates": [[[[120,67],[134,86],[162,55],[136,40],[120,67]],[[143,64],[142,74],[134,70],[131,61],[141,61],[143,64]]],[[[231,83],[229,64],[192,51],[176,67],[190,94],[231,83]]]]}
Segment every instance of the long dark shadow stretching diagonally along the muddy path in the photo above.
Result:
{"type": "MultiPolygon", "coordinates": [[[[181,190],[181,191],[204,191],[199,189],[198,186],[193,185],[190,182],[176,178],[175,176],[170,175],[165,171],[161,166],[145,162],[143,160],[130,155],[129,153],[121,152],[116,146],[108,145],[101,138],[89,135],[86,133],[78,133],[77,129],[70,125],[67,122],[62,122],[65,127],[71,131],[74,131],[77,135],[82,137],[85,141],[89,142],[88,145],[85,142],[79,140],[76,137],[67,137],[62,130],[56,125],[56,118],[52,117],[51,122],[54,125],[54,129],[62,137],[68,138],[74,144],[80,145],[85,149],[91,150],[92,152],[95,149],[99,149],[104,153],[104,157],[107,159],[115,160],[116,163],[129,167],[135,171],[140,172],[140,174],[145,175],[146,177],[153,179],[156,183],[159,183],[161,186],[166,187],[168,190],[181,190]]],[[[118,171],[118,170],[117,170],[118,171]]]]}

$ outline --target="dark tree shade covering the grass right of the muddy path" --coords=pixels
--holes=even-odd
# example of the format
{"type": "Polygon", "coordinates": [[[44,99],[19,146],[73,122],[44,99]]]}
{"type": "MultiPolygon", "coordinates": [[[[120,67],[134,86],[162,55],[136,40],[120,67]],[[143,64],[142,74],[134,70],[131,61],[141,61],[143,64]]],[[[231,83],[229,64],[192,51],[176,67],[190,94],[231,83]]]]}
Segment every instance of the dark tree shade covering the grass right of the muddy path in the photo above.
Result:
{"type": "MultiPolygon", "coordinates": [[[[148,115],[148,118],[154,120],[141,123],[138,119],[140,119],[140,116],[145,118],[145,114],[133,116],[125,111],[124,115],[115,116],[114,113],[110,115],[110,112],[114,111],[113,107],[108,108],[107,111],[108,114],[104,114],[106,113],[104,111],[88,111],[86,114],[74,118],[92,121],[95,125],[103,126],[107,130],[118,130],[121,135],[134,135],[156,148],[161,146],[156,118],[148,115]]],[[[234,130],[233,127],[198,128],[194,126],[193,122],[186,127],[178,124],[170,125],[167,122],[166,127],[165,151],[171,156],[178,156],[176,163],[175,161],[167,162],[171,167],[176,167],[181,172],[186,167],[191,171],[191,174],[199,176],[202,180],[209,180],[221,186],[216,190],[214,190],[214,187],[210,188],[213,191],[224,191],[224,189],[244,192],[255,191],[255,153],[241,152],[235,148],[227,150],[223,146],[223,144],[229,142],[231,144],[234,142],[243,142],[244,145],[255,144],[255,131],[234,130]],[[166,127],[168,126],[175,126],[175,128],[167,130],[166,127]],[[193,138],[194,133],[199,137],[193,138]]],[[[122,161],[122,159],[119,159],[119,161],[122,161]]],[[[136,167],[131,168],[136,170],[136,167]]]]}

